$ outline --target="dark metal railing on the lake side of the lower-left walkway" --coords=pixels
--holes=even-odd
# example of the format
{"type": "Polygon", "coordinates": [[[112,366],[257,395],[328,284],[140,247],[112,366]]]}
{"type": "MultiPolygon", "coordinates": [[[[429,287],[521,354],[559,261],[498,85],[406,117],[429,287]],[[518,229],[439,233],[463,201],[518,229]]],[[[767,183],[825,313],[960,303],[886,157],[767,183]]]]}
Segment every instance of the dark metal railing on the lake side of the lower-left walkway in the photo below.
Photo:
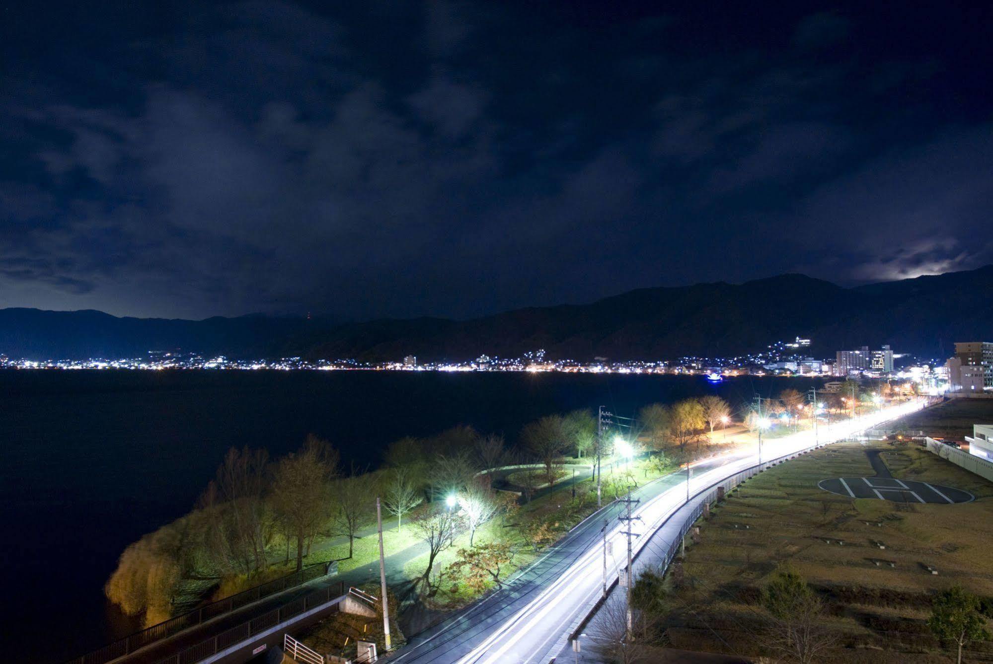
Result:
{"type": "Polygon", "coordinates": [[[141,631],[136,631],[113,643],[108,643],[102,648],[87,652],[81,657],[71,659],[66,664],[105,664],[118,657],[128,655],[138,648],[155,643],[156,641],[161,641],[177,632],[207,622],[218,615],[229,613],[253,601],[258,601],[261,598],[267,598],[276,593],[282,593],[287,589],[306,584],[314,579],[319,579],[328,574],[328,570],[329,567],[325,563],[311,565],[299,572],[294,572],[285,577],[270,581],[267,584],[250,588],[243,593],[232,595],[229,598],[212,601],[200,608],[195,608],[182,615],[177,615],[176,617],[154,624],[151,627],[146,627],[141,631]]]}

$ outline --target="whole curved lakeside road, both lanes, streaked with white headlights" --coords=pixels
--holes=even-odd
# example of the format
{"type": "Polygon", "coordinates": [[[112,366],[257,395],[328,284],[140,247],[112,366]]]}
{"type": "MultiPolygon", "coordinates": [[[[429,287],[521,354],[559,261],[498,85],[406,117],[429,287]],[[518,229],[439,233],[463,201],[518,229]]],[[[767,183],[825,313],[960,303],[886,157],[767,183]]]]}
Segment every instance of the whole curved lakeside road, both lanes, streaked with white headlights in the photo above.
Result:
{"type": "MultiPolygon", "coordinates": [[[[909,403],[856,421],[834,423],[830,434],[822,427],[819,443],[848,438],[921,407],[921,403],[909,403]]],[[[813,444],[813,432],[768,441],[763,446],[763,461],[793,454],[813,444]]],[[[747,450],[695,464],[690,493],[699,499],[715,483],[758,463],[757,451],[747,450]]],[[[635,522],[633,530],[644,535],[638,538],[638,549],[650,540],[664,537],[664,532],[672,530],[673,524],[681,525],[681,520],[670,517],[687,502],[686,491],[686,475],[682,472],[632,491],[632,497],[639,500],[634,514],[641,518],[640,522],[635,522]]],[[[392,661],[404,664],[547,662],[568,645],[568,634],[601,597],[604,583],[601,532],[605,520],[607,537],[614,551],[613,559],[608,558],[608,584],[617,579],[618,571],[625,563],[626,537],[617,518],[623,508],[622,502],[607,505],[574,528],[503,589],[411,639],[391,658],[392,661]]]]}

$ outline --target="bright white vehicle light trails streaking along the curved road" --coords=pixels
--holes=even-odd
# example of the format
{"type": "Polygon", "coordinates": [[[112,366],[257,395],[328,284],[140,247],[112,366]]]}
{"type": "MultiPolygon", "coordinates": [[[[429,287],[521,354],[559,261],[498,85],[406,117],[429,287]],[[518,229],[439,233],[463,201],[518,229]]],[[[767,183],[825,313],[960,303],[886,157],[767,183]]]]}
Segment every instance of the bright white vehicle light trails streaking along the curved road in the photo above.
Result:
{"type": "MultiPolygon", "coordinates": [[[[855,420],[837,423],[829,436],[821,434],[821,443],[836,442],[871,429],[888,420],[902,417],[919,410],[922,402],[912,402],[886,410],[863,415],[855,420]]],[[[779,459],[807,449],[814,445],[813,432],[799,432],[780,439],[767,440],[767,459],[779,459]]],[[[751,451],[730,456],[728,463],[706,470],[686,481],[691,493],[713,486],[732,477],[738,472],[757,464],[758,456],[751,451]]],[[[644,535],[662,524],[680,506],[685,504],[686,484],[679,482],[657,496],[645,500],[634,511],[644,523],[651,524],[644,535]]],[[[623,526],[616,525],[610,530],[608,541],[615,546],[621,541],[623,526]]],[[[639,538],[638,551],[647,537],[639,538]]],[[[505,620],[496,630],[458,661],[464,664],[497,664],[499,662],[528,662],[554,652],[546,652],[547,643],[552,639],[561,640],[573,623],[577,612],[589,606],[601,594],[601,565],[599,542],[593,543],[575,562],[548,588],[524,607],[505,620]]],[[[616,576],[616,569],[612,576],[616,576]]],[[[611,580],[613,582],[613,579],[611,580]]],[[[555,648],[553,648],[555,650],[555,648]]]]}

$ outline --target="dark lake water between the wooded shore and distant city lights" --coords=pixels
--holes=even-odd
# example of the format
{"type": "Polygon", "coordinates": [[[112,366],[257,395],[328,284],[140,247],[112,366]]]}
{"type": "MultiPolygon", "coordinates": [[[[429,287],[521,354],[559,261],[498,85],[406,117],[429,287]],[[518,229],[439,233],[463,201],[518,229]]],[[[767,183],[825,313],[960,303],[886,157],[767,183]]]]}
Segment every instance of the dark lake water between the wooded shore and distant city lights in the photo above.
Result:
{"type": "Polygon", "coordinates": [[[348,463],[457,424],[514,442],[550,413],[717,393],[744,403],[804,379],[373,371],[0,371],[0,652],[59,662],[135,625],[102,587],[129,543],[190,510],[224,452],[330,440],[348,463]],[[53,636],[52,627],[58,637],[53,636]]]}

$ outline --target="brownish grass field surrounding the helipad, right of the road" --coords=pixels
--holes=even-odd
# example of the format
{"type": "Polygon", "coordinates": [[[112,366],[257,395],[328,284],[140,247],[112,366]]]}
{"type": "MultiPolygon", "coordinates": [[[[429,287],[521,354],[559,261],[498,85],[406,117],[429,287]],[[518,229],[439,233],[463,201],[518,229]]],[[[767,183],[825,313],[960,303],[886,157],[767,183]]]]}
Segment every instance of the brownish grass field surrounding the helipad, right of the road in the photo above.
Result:
{"type": "MultiPolygon", "coordinates": [[[[671,596],[667,635],[675,648],[769,654],[748,625],[761,614],[760,590],[788,563],[826,602],[824,624],[837,640],[823,661],[948,661],[924,624],[929,596],[955,584],[993,596],[990,524],[993,484],[908,444],[846,443],[801,456],[749,480],[701,523],[700,543],[687,547],[686,581],[671,596]],[[976,500],[910,504],[817,487],[829,477],[874,476],[867,448],[882,451],[895,477],[964,489],[976,500]]],[[[993,643],[967,654],[993,661],[993,643]]]]}

